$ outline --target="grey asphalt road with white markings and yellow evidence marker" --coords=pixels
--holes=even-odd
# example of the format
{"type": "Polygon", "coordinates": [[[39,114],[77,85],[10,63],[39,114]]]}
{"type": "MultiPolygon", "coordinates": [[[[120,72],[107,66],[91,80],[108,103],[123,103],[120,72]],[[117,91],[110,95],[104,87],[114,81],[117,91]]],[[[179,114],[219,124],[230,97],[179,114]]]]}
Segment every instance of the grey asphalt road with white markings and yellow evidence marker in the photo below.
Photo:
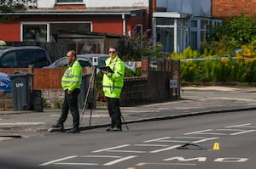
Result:
{"type": "Polygon", "coordinates": [[[254,111],[141,122],[123,132],[11,139],[0,142],[0,168],[253,169],[254,111]]]}

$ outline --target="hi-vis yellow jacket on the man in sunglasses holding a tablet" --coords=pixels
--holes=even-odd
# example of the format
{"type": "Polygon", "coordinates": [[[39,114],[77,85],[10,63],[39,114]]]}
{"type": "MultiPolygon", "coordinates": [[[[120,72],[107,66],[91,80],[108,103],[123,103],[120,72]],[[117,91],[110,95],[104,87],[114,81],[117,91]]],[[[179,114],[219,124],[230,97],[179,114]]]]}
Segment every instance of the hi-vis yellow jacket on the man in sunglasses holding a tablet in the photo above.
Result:
{"type": "Polygon", "coordinates": [[[102,87],[103,93],[108,98],[120,98],[122,87],[124,86],[125,76],[125,64],[119,59],[119,56],[115,56],[113,61],[109,57],[105,61],[106,66],[109,66],[113,73],[103,75],[102,87]]]}

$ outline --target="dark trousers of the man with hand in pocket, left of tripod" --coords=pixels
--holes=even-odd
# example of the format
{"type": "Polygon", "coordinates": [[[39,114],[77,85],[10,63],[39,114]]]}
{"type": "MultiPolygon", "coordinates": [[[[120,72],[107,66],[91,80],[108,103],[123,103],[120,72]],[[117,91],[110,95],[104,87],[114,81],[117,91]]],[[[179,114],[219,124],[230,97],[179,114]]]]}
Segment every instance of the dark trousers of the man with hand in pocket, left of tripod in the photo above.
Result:
{"type": "Polygon", "coordinates": [[[76,88],[72,94],[68,94],[65,90],[65,99],[62,104],[62,113],[58,121],[59,124],[63,124],[67,120],[68,110],[70,110],[73,116],[73,128],[79,128],[79,107],[78,107],[78,96],[80,89],[76,88]]]}

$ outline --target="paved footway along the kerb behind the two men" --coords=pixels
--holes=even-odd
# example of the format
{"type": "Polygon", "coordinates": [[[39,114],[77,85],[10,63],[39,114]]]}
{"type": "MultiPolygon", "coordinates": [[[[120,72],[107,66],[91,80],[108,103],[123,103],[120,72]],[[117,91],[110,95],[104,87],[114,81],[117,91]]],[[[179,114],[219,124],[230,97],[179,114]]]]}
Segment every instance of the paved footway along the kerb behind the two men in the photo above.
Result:
{"type": "MultiPolygon", "coordinates": [[[[182,87],[181,98],[155,104],[143,104],[121,107],[125,123],[175,119],[191,115],[228,113],[241,110],[256,110],[256,87],[182,87]]],[[[61,115],[61,110],[44,109],[43,112],[30,110],[0,111],[0,141],[11,138],[28,138],[55,134],[48,132],[61,115]]],[[[109,126],[107,107],[96,107],[95,110],[80,110],[80,128],[102,128],[109,126]]],[[[72,116],[69,114],[65,128],[72,127],[72,116]]],[[[125,124],[123,130],[126,130],[125,124]]]]}

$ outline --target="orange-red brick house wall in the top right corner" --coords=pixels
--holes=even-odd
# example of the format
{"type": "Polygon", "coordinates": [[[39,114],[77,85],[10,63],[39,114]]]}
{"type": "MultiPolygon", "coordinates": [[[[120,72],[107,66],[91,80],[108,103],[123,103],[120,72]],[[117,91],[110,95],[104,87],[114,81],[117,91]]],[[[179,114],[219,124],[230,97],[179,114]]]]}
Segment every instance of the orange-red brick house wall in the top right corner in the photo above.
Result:
{"type": "Polygon", "coordinates": [[[213,18],[231,18],[243,14],[256,14],[255,0],[212,0],[213,18]]]}

